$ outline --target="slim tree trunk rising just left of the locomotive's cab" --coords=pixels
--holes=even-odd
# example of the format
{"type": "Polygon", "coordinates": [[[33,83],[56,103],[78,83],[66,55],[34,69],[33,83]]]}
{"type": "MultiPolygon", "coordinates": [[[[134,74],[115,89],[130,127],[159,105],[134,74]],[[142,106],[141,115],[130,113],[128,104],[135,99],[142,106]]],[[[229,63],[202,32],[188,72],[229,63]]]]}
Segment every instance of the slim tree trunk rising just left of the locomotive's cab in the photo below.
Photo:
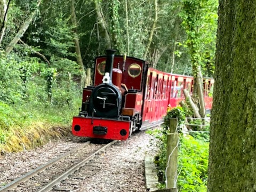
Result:
{"type": "Polygon", "coordinates": [[[81,56],[81,50],[79,46],[79,38],[77,35],[77,19],[76,19],[76,10],[75,10],[75,1],[70,0],[71,3],[71,21],[74,26],[73,32],[74,32],[74,43],[75,43],[75,51],[76,51],[76,61],[78,65],[80,66],[81,70],[81,89],[83,89],[87,84],[86,84],[86,74],[85,74],[85,69],[84,69],[84,64],[81,56]]]}

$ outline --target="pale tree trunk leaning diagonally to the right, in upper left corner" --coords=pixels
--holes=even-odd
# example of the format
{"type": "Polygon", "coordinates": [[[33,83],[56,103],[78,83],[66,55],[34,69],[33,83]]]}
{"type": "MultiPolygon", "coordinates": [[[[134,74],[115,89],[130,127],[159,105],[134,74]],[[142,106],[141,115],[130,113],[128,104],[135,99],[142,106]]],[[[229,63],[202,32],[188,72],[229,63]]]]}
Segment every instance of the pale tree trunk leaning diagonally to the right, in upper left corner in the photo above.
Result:
{"type": "MultiPolygon", "coordinates": [[[[41,4],[41,1],[42,0],[38,0],[36,8],[39,7],[39,5],[41,4]]],[[[24,33],[28,29],[31,21],[34,19],[36,11],[37,11],[37,9],[35,9],[33,12],[30,13],[28,18],[25,20],[25,22],[23,23],[23,25],[19,29],[18,33],[15,35],[15,37],[12,39],[12,41],[9,43],[9,45],[7,45],[7,48],[5,50],[5,55],[8,55],[13,50],[13,47],[18,43],[19,39],[24,35],[24,33]]]]}

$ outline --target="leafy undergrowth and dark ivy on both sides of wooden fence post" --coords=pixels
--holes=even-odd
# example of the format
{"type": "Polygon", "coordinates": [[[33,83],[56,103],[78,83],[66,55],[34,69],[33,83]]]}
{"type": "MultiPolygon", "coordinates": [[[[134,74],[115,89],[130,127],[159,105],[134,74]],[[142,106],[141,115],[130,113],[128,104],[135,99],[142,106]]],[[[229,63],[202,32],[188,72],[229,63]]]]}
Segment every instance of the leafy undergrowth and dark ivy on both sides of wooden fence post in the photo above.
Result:
{"type": "MultiPolygon", "coordinates": [[[[170,118],[177,117],[178,127],[185,120],[185,112],[181,107],[169,109],[165,123],[160,129],[149,130],[147,133],[158,139],[159,149],[155,163],[158,167],[159,187],[165,188],[166,143],[170,118]]],[[[178,129],[178,131],[181,129],[178,129]]],[[[207,182],[207,166],[209,154],[209,133],[193,133],[183,135],[179,133],[178,151],[178,189],[186,192],[205,192],[207,182]]]]}

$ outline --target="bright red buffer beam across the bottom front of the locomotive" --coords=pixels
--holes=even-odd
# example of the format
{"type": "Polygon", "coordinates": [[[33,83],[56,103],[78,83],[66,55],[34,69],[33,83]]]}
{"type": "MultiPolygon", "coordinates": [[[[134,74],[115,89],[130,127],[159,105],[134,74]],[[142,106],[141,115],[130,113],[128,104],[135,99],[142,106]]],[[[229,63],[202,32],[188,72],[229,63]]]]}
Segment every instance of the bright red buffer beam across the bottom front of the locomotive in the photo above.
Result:
{"type": "Polygon", "coordinates": [[[113,139],[113,140],[126,140],[129,137],[130,122],[128,121],[116,121],[114,119],[102,119],[102,118],[92,118],[87,117],[73,117],[72,133],[79,137],[90,137],[90,138],[100,138],[100,139],[113,139]],[[81,130],[75,131],[74,126],[80,125],[81,130]],[[93,126],[105,126],[108,127],[108,132],[106,135],[93,134],[93,126]],[[125,136],[120,135],[120,131],[125,129],[127,134],[125,136]]]}

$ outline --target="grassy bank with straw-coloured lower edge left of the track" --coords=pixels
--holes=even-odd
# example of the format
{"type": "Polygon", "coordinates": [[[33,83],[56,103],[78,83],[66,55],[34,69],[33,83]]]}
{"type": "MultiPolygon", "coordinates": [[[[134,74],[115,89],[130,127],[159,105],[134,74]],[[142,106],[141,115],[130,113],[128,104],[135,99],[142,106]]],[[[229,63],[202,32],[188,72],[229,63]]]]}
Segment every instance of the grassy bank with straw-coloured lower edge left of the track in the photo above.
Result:
{"type": "Polygon", "coordinates": [[[0,151],[21,151],[41,146],[52,138],[71,134],[73,116],[78,114],[81,98],[70,105],[50,103],[0,103],[0,151]]]}

